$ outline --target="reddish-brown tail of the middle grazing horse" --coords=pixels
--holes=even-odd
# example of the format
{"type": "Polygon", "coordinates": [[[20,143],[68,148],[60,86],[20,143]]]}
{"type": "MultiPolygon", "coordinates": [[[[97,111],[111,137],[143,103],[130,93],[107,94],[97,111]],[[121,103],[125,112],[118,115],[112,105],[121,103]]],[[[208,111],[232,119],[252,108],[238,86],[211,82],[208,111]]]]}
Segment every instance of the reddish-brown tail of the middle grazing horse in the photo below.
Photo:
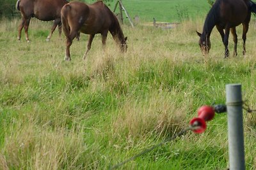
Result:
{"type": "Polygon", "coordinates": [[[65,4],[61,9],[61,23],[62,29],[66,36],[70,33],[70,27],[68,25],[68,12],[70,11],[71,6],[69,4],[65,4]]]}

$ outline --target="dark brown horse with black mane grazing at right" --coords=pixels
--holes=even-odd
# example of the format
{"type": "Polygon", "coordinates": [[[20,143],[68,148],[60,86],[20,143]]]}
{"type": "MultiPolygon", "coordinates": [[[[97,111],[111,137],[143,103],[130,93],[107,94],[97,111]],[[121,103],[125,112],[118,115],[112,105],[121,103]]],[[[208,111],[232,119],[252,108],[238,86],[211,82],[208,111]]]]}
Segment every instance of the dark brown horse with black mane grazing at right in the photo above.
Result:
{"type": "Polygon", "coordinates": [[[207,14],[202,34],[196,31],[200,36],[199,45],[202,52],[204,54],[209,53],[211,31],[216,25],[225,46],[225,58],[229,55],[228,36],[230,31],[233,34],[234,55],[237,55],[236,26],[243,24],[243,54],[245,54],[246,33],[248,32],[251,12],[254,13],[255,9],[255,3],[250,0],[216,0],[207,14]]]}

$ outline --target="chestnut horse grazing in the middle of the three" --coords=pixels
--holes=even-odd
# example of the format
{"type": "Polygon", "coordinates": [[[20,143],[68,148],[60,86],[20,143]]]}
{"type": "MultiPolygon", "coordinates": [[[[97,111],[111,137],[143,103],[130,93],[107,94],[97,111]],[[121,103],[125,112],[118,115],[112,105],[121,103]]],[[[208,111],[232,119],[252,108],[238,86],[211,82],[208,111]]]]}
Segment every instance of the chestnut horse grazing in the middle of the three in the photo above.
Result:
{"type": "Polygon", "coordinates": [[[95,34],[101,34],[104,47],[108,31],[120,46],[121,51],[126,52],[127,50],[127,37],[124,37],[118,19],[102,1],[97,1],[93,4],[73,1],[65,4],[61,10],[61,22],[63,32],[67,37],[65,60],[71,60],[69,48],[79,31],[90,35],[84,59],[91,48],[95,34]]]}

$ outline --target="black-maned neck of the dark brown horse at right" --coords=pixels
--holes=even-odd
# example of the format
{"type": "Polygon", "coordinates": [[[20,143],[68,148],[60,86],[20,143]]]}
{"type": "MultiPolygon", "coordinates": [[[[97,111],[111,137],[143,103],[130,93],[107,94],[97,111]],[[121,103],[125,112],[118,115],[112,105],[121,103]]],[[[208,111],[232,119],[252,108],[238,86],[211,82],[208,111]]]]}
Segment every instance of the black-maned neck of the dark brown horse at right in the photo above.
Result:
{"type": "Polygon", "coordinates": [[[213,27],[216,25],[217,17],[218,16],[218,10],[216,10],[215,6],[212,6],[212,9],[207,14],[207,17],[204,22],[204,29],[203,34],[206,36],[210,36],[213,27]]]}

